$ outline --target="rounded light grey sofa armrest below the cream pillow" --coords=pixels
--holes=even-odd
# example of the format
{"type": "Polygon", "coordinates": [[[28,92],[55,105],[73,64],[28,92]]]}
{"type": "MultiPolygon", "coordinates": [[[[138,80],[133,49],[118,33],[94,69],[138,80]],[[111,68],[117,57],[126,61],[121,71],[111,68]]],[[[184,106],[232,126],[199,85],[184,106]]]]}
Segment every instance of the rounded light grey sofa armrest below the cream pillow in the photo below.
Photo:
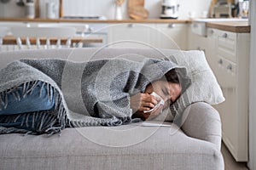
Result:
{"type": "Polygon", "coordinates": [[[198,102],[183,113],[183,132],[189,137],[206,140],[221,147],[221,120],[212,105],[198,102]]]}

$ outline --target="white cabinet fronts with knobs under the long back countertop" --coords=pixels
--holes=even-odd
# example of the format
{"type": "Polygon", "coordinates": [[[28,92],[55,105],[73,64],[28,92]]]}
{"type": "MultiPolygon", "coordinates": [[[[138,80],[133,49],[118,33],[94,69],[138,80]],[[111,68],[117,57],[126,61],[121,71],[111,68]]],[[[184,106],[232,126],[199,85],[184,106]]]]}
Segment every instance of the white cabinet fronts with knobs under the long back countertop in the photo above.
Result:
{"type": "Polygon", "coordinates": [[[118,24],[108,28],[111,48],[187,49],[186,24],[118,24]]]}

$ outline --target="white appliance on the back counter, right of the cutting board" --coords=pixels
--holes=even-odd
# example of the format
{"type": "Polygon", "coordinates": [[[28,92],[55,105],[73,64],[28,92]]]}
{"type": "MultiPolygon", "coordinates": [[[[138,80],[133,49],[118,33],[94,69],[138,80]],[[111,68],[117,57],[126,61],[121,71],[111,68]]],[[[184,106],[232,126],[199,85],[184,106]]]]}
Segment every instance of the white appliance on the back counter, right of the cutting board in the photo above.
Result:
{"type": "Polygon", "coordinates": [[[177,0],[162,0],[160,19],[177,19],[178,8],[177,0]]]}

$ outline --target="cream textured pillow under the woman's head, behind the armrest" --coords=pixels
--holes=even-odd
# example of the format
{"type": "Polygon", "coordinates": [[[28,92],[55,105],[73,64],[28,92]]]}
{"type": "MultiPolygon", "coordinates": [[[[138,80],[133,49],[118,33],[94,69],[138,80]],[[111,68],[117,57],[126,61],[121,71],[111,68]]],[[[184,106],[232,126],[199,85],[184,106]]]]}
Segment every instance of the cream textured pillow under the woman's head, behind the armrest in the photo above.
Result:
{"type": "Polygon", "coordinates": [[[179,51],[167,58],[177,65],[187,68],[191,84],[170,108],[164,110],[154,120],[173,121],[175,119],[178,122],[178,118],[183,114],[186,107],[195,102],[206,102],[210,105],[224,102],[222,90],[202,51],[179,51]]]}

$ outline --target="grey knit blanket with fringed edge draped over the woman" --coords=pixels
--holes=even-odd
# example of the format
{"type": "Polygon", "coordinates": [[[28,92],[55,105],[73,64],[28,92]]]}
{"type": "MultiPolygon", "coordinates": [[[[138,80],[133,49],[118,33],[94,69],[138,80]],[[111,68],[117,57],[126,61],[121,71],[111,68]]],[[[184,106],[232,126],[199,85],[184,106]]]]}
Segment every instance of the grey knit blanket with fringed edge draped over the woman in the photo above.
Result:
{"type": "MultiPolygon", "coordinates": [[[[0,109],[8,105],[7,94],[22,99],[38,82],[54,89],[55,110],[24,113],[34,122],[31,133],[57,133],[65,127],[117,126],[132,122],[130,96],[143,92],[149,82],[176,68],[186,70],[164,59],[101,59],[83,63],[61,59],[21,59],[0,71],[0,109]],[[23,94],[15,90],[23,87],[23,94]],[[33,114],[33,115],[32,115],[33,114]]],[[[14,122],[17,116],[1,121],[14,122]]],[[[0,127],[0,133],[27,133],[26,129],[0,127]]]]}

